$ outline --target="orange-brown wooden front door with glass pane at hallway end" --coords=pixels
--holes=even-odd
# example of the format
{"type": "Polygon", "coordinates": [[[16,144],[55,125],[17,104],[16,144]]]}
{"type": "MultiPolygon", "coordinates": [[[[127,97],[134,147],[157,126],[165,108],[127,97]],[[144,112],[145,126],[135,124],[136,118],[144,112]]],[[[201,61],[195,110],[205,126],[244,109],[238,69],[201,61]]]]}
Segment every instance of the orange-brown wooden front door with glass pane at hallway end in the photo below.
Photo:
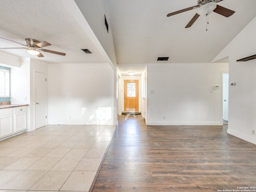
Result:
{"type": "Polygon", "coordinates": [[[139,110],[139,80],[124,80],[124,111],[139,110]]]}

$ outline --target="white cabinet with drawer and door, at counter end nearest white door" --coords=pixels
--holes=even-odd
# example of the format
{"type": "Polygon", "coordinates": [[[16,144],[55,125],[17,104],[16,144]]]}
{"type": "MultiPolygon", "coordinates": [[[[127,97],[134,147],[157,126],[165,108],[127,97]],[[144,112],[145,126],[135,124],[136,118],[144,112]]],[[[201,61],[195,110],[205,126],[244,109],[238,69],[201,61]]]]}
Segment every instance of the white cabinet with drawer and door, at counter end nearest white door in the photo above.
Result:
{"type": "Polygon", "coordinates": [[[26,106],[13,108],[14,133],[27,129],[26,106]]]}

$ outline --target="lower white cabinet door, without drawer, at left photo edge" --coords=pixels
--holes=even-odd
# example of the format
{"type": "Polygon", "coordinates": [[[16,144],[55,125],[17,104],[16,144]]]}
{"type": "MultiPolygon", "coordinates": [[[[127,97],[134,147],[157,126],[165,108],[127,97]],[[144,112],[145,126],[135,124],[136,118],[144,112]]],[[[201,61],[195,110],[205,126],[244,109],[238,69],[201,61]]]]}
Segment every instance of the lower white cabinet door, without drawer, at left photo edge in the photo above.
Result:
{"type": "Polygon", "coordinates": [[[12,134],[12,114],[0,117],[0,138],[12,134]]]}

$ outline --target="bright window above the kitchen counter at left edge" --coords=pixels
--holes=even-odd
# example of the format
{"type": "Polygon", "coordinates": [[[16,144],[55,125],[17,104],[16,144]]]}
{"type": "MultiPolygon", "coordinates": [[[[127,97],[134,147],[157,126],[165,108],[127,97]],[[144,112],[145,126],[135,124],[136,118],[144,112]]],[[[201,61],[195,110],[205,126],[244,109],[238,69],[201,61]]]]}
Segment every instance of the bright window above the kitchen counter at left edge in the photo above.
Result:
{"type": "Polygon", "coordinates": [[[10,68],[0,66],[0,97],[10,97],[10,68]]]}

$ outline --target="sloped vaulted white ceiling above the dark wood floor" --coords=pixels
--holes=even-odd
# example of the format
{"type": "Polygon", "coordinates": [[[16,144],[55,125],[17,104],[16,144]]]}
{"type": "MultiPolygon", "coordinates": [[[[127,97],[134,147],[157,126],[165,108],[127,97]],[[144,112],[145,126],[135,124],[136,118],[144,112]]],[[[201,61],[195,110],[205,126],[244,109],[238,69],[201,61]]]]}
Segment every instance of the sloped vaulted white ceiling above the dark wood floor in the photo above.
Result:
{"type": "Polygon", "coordinates": [[[166,15],[191,6],[197,0],[108,0],[116,58],[121,63],[211,62],[215,56],[256,16],[255,0],[223,0],[217,4],[234,10],[226,18],[213,12],[200,16],[185,28],[197,9],[166,15]]]}

